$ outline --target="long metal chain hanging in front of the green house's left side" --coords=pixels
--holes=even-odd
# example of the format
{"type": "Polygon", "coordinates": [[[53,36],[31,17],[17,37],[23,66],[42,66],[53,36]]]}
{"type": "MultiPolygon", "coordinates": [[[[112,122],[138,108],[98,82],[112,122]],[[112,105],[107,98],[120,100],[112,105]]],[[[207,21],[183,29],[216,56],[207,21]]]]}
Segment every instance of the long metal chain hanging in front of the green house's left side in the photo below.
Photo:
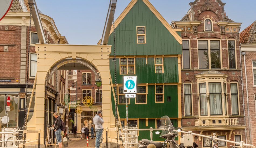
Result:
{"type": "Polygon", "coordinates": [[[114,35],[114,61],[115,61],[115,97],[116,97],[116,104],[115,104],[115,117],[116,117],[116,123],[115,127],[118,128],[116,131],[116,143],[117,147],[119,147],[118,140],[119,137],[119,121],[118,121],[118,115],[117,115],[117,88],[116,88],[116,36],[115,36],[115,10],[113,9],[113,35],[114,35]]]}

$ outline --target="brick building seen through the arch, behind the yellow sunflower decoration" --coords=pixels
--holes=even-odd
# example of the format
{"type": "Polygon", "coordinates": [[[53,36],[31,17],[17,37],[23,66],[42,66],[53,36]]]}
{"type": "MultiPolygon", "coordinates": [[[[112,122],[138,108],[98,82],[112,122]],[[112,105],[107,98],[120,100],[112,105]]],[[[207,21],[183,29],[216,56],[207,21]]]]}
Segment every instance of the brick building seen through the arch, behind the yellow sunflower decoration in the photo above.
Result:
{"type": "MultiPolygon", "coordinates": [[[[95,83],[95,74],[88,68],[70,70],[68,75],[68,89],[70,92],[70,116],[68,118],[69,133],[74,133],[74,126],[80,133],[82,126],[90,127],[92,118],[98,110],[102,110],[102,97],[95,83]],[[89,97],[91,105],[86,104],[89,97]],[[74,123],[71,123],[71,119],[74,123]]],[[[101,90],[101,88],[99,88],[101,90]]]]}

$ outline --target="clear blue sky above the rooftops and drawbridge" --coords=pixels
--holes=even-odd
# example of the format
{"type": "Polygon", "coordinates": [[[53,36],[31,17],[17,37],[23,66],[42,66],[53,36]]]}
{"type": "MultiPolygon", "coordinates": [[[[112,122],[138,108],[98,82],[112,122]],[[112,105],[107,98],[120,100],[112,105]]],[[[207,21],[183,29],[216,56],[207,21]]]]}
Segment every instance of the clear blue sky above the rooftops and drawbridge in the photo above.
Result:
{"type": "MultiPolygon", "coordinates": [[[[54,22],[69,44],[96,44],[102,36],[110,0],[36,0],[39,10],[54,22]]],[[[170,24],[180,20],[194,0],[149,0],[170,24]]],[[[130,0],[117,0],[115,18],[130,0]]],[[[235,22],[243,23],[241,31],[256,20],[255,0],[222,0],[224,10],[235,22]]]]}

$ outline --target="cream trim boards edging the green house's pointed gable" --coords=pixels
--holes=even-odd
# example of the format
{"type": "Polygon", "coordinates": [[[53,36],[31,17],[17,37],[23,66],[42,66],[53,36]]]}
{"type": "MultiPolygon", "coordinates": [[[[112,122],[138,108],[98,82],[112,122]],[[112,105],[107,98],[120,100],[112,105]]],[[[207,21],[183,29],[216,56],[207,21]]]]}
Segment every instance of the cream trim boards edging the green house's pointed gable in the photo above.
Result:
{"type": "MultiPolygon", "coordinates": [[[[132,9],[134,4],[138,0],[132,0],[127,7],[123,10],[123,12],[119,15],[119,17],[115,21],[115,27],[118,26],[118,24],[123,20],[123,18],[127,15],[127,13],[132,9]]],[[[160,20],[160,22],[167,28],[167,30],[172,34],[172,36],[179,42],[179,44],[182,44],[182,39],[179,36],[179,34],[172,29],[171,25],[168,24],[168,22],[161,16],[161,14],[155,9],[155,7],[148,1],[148,0],[142,0],[147,7],[154,13],[154,15],[160,20]]],[[[110,30],[110,34],[113,32],[113,24],[110,30]]],[[[110,35],[109,34],[109,35],[110,35]]]]}

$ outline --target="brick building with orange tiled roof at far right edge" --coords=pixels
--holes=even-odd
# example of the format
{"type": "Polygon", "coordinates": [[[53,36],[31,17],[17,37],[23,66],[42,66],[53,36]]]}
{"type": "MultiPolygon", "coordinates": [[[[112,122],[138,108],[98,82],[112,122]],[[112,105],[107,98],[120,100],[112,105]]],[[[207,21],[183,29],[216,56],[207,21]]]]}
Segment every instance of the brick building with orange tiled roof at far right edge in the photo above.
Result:
{"type": "Polygon", "coordinates": [[[247,142],[256,145],[256,21],[240,33],[247,142]]]}

